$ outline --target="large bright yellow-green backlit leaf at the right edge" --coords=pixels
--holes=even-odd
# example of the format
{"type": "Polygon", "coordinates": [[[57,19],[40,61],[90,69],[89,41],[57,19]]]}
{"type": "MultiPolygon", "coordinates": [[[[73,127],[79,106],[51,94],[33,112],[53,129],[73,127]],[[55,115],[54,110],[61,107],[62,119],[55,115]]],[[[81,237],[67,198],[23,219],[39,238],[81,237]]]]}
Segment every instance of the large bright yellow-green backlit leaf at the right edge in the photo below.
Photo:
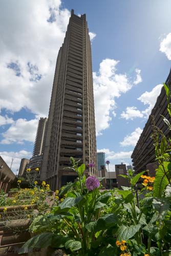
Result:
{"type": "MultiPolygon", "coordinates": [[[[171,166],[170,162],[163,162],[163,165],[164,165],[165,173],[170,178],[170,166],[171,166]]],[[[161,198],[164,188],[169,183],[164,173],[164,169],[162,165],[159,165],[158,170],[156,172],[156,179],[154,181],[154,187],[153,187],[154,197],[161,198]]]]}

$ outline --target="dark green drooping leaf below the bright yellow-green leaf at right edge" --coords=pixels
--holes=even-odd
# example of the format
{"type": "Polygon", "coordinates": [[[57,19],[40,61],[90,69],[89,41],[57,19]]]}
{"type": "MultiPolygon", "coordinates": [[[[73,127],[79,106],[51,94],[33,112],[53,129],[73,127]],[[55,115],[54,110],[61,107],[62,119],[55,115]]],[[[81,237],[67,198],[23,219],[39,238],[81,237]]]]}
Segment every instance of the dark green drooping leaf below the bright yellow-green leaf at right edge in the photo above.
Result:
{"type": "Polygon", "coordinates": [[[153,208],[159,213],[159,224],[158,224],[159,229],[161,228],[161,226],[163,224],[164,217],[166,216],[169,207],[170,207],[169,199],[154,198],[153,208]]]}

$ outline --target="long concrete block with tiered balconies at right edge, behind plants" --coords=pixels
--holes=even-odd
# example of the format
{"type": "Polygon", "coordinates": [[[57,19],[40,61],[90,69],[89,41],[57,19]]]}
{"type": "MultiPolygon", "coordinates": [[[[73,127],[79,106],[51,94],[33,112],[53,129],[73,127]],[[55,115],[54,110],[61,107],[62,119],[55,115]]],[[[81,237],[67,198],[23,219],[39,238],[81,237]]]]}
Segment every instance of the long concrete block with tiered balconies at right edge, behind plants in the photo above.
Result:
{"type": "MultiPolygon", "coordinates": [[[[165,81],[169,86],[169,90],[171,90],[171,70],[165,81]]],[[[163,115],[169,122],[171,122],[171,117],[167,111],[167,97],[165,93],[164,87],[161,89],[161,93],[157,98],[156,104],[152,110],[151,115],[154,115],[156,126],[163,132],[165,137],[168,139],[171,136],[171,131],[168,129],[168,126],[163,121],[163,115]]],[[[151,172],[154,173],[155,166],[157,162],[155,162],[155,146],[153,138],[151,138],[153,134],[152,130],[152,117],[149,115],[149,118],[145,124],[145,127],[141,133],[141,136],[134,148],[133,154],[131,158],[133,158],[132,162],[134,165],[135,173],[141,173],[144,170],[148,169],[148,164],[153,163],[151,166],[151,172]],[[152,170],[153,168],[153,170],[152,170]]],[[[159,137],[159,143],[161,141],[161,136],[159,137]]]]}

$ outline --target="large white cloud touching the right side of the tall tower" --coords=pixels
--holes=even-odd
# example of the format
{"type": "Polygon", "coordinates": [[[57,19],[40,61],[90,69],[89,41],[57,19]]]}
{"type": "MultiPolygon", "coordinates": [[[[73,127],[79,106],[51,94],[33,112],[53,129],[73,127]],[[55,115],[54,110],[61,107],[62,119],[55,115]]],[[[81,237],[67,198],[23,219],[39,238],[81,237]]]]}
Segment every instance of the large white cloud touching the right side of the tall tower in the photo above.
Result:
{"type": "Polygon", "coordinates": [[[118,62],[114,59],[104,59],[100,63],[99,72],[93,72],[97,135],[110,126],[110,113],[116,116],[115,97],[120,97],[121,93],[126,93],[133,87],[126,74],[116,74],[118,62]]]}

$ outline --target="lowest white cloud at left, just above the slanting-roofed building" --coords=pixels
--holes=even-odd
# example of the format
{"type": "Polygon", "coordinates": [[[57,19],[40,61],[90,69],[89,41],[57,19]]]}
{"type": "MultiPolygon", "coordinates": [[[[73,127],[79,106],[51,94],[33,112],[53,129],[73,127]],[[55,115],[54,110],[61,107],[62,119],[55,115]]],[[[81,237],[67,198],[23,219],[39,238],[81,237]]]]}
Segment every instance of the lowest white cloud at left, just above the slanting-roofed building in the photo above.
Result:
{"type": "Polygon", "coordinates": [[[19,170],[22,158],[30,159],[32,157],[31,152],[25,150],[19,152],[0,152],[0,155],[9,167],[11,166],[12,158],[14,158],[11,168],[14,174],[16,174],[17,169],[19,170]]]}

